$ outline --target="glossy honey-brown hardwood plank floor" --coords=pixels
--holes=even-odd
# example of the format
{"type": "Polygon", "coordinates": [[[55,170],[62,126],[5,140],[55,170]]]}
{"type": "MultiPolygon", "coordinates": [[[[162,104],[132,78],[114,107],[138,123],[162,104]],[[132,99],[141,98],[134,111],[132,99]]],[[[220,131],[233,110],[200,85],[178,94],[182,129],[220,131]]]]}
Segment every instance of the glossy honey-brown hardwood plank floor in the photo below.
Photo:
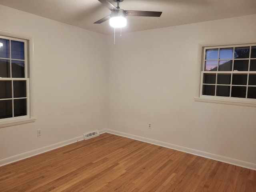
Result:
{"type": "Polygon", "coordinates": [[[256,192],[256,171],[102,134],[0,167],[1,192],[256,192]]]}

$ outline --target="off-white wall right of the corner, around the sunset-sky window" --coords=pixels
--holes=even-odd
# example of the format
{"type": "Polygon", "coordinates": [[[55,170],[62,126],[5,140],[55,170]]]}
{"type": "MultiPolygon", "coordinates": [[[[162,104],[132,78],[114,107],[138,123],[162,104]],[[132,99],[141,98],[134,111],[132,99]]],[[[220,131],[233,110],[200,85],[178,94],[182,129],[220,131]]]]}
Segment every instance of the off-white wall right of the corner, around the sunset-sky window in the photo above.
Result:
{"type": "Polygon", "coordinates": [[[110,37],[108,128],[256,164],[256,108],[194,101],[198,44],[256,39],[255,20],[134,32],[115,45],[110,37]]]}

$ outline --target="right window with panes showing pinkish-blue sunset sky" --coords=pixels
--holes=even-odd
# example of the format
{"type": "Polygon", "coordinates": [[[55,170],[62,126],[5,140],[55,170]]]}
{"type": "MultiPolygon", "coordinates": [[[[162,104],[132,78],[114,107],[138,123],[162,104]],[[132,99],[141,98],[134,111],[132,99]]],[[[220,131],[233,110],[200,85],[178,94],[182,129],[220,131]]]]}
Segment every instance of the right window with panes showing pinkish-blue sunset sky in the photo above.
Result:
{"type": "Polygon", "coordinates": [[[256,44],[204,47],[200,97],[256,104],[256,44]]]}

